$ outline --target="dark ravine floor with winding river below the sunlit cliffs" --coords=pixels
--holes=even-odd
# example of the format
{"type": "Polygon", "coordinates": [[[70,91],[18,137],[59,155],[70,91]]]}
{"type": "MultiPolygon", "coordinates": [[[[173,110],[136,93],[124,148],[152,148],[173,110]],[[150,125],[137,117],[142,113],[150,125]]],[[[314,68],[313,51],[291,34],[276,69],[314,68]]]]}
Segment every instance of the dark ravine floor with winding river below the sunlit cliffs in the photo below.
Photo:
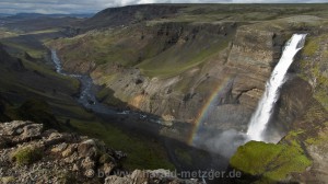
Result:
{"type": "MultiPolygon", "coordinates": [[[[56,50],[51,50],[51,59],[55,64],[56,71],[63,76],[77,78],[80,81],[80,94],[77,101],[86,110],[92,111],[98,117],[110,120],[117,119],[116,126],[122,128],[125,131],[133,131],[133,134],[145,134],[150,138],[156,138],[160,143],[165,146],[165,151],[168,159],[175,165],[177,172],[197,171],[197,170],[216,170],[224,171],[227,166],[227,159],[220,154],[207,152],[201,149],[189,147],[188,145],[171,138],[185,138],[186,131],[190,131],[189,126],[179,126],[168,124],[167,120],[152,115],[144,114],[138,111],[121,111],[115,106],[108,106],[98,102],[95,97],[95,85],[92,79],[86,74],[73,74],[62,71],[61,61],[57,56],[56,50]],[[184,134],[174,135],[177,131],[185,131],[184,134]],[[181,149],[183,148],[183,149],[181,149]],[[177,152],[178,151],[178,152],[177,152]],[[186,154],[187,153],[187,159],[186,154]],[[189,156],[189,153],[191,153],[189,156]],[[188,159],[190,157],[190,159],[188,159]],[[209,164],[211,163],[211,164],[209,164]]],[[[109,124],[110,124],[109,123],[109,124]]],[[[178,123],[177,123],[178,124],[178,123]]],[[[183,176],[190,179],[190,176],[183,176]]],[[[200,179],[200,176],[197,176],[200,179]]],[[[208,181],[207,179],[202,179],[208,181]]]]}

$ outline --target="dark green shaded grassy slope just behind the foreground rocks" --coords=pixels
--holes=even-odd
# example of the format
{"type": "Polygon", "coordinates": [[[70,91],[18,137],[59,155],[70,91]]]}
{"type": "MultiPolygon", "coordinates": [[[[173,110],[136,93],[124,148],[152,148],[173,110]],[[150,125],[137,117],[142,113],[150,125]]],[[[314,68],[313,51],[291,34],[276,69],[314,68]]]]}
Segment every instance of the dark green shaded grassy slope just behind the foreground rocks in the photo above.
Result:
{"type": "Polygon", "coordinates": [[[128,170],[174,169],[165,149],[155,140],[137,137],[108,123],[99,123],[98,119],[90,122],[71,119],[71,125],[77,128],[78,133],[98,138],[113,149],[126,152],[128,158],[124,166],[128,170]]]}

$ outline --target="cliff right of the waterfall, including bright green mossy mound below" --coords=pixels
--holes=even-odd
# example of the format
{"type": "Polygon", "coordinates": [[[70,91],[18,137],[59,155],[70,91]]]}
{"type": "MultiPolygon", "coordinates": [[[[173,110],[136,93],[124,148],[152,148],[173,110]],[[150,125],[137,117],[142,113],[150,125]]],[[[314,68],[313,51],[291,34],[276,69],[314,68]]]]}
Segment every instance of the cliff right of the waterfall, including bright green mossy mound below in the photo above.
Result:
{"type": "Polygon", "coordinates": [[[238,148],[231,165],[245,173],[244,182],[327,183],[327,55],[323,51],[327,22],[308,20],[313,18],[302,24],[308,33],[305,47],[296,56],[276,110],[277,118],[284,122],[276,126],[290,131],[278,145],[249,142],[238,148]]]}

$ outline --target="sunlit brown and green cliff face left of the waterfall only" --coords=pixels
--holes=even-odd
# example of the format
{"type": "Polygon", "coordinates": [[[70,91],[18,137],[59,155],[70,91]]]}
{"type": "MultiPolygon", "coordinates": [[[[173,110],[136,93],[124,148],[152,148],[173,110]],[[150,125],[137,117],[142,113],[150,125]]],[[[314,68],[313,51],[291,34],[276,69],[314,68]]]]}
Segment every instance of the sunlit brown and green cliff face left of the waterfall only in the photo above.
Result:
{"type": "MultiPolygon", "coordinates": [[[[92,31],[52,46],[66,70],[90,72],[105,88],[98,100],[112,106],[127,105],[168,122],[194,123],[211,101],[213,107],[204,119],[209,127],[245,130],[292,34],[290,27],[281,30],[235,22],[150,21],[92,31]]],[[[283,107],[278,112],[288,113],[283,107]]]]}

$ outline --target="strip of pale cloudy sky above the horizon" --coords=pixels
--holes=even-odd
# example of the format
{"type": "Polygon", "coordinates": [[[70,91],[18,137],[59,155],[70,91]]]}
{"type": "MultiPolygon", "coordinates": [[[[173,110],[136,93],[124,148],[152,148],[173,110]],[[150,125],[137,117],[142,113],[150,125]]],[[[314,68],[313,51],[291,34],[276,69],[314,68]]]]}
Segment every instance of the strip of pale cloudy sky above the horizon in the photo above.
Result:
{"type": "Polygon", "coordinates": [[[110,7],[143,3],[315,3],[328,0],[0,0],[0,13],[96,13],[110,7]]]}

